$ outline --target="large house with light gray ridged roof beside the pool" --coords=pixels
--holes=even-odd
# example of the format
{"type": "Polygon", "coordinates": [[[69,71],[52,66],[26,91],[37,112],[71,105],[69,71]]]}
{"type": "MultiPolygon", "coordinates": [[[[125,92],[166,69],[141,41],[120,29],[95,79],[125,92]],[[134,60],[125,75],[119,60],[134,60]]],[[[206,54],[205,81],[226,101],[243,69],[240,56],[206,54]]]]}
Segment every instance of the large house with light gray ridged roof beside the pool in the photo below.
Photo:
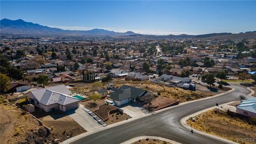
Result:
{"type": "Polygon", "coordinates": [[[67,111],[79,107],[79,99],[71,97],[71,91],[65,85],[57,85],[26,93],[30,103],[46,112],[59,109],[67,111]]]}

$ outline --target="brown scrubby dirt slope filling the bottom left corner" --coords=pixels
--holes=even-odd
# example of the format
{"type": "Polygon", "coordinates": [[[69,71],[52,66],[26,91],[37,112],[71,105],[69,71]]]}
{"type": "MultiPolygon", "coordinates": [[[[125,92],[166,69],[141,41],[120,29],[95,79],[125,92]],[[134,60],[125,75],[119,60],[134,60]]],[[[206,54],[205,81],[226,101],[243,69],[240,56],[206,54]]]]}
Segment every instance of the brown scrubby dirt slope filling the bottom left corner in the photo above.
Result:
{"type": "Polygon", "coordinates": [[[1,143],[37,143],[53,139],[47,137],[47,131],[38,121],[22,113],[22,110],[4,102],[0,104],[1,143]]]}

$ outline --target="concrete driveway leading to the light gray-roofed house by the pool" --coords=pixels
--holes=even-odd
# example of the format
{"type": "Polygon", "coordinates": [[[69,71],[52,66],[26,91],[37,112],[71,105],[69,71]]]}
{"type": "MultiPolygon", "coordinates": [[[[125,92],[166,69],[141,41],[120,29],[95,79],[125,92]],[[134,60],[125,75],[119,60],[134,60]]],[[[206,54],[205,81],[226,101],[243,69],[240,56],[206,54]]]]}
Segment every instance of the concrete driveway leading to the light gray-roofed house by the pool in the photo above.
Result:
{"type": "Polygon", "coordinates": [[[103,129],[98,125],[87,113],[83,110],[83,105],[80,105],[75,111],[68,111],[67,114],[74,119],[79,125],[81,125],[86,131],[95,131],[97,129],[103,129]]]}

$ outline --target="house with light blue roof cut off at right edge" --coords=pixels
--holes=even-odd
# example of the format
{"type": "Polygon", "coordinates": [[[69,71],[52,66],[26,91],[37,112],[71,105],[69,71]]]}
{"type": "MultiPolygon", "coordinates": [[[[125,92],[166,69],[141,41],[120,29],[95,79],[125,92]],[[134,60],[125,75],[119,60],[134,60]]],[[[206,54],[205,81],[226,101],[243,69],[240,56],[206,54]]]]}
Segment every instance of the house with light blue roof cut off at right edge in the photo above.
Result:
{"type": "Polygon", "coordinates": [[[242,102],[236,106],[236,113],[249,117],[256,117],[256,98],[242,100],[242,102]]]}

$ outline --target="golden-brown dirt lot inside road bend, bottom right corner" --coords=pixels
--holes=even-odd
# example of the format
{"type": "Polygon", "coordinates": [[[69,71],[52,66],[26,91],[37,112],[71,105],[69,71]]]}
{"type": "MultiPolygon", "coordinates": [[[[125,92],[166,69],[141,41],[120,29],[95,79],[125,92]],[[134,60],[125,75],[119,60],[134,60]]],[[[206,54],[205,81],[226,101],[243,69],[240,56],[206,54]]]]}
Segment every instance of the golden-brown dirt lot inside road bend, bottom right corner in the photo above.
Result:
{"type": "Polygon", "coordinates": [[[234,142],[238,142],[237,138],[256,138],[256,125],[249,124],[245,119],[230,117],[225,111],[210,110],[196,117],[196,122],[187,120],[187,123],[199,131],[234,142]]]}

